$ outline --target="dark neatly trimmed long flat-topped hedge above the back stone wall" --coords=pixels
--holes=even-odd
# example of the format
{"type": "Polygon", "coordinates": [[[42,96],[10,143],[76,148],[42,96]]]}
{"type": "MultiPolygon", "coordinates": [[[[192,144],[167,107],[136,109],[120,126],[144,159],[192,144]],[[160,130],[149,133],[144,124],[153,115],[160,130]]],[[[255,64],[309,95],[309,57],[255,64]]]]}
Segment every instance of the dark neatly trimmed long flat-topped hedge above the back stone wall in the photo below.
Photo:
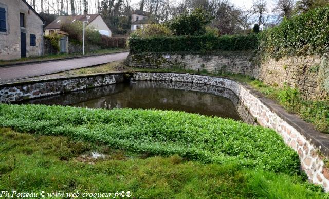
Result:
{"type": "Polygon", "coordinates": [[[213,50],[248,50],[257,49],[258,35],[213,35],[179,36],[179,37],[130,37],[129,48],[131,53],[141,52],[191,52],[213,50]]]}

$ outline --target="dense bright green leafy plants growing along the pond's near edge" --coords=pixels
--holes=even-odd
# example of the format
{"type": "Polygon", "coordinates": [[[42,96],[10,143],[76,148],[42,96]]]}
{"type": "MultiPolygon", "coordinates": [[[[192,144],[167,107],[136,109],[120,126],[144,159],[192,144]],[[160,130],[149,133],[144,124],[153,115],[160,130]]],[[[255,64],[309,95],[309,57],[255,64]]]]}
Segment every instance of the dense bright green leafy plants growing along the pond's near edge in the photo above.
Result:
{"type": "Polygon", "coordinates": [[[104,143],[135,153],[178,154],[204,163],[299,172],[297,153],[275,131],[232,119],[174,111],[0,104],[0,126],[104,143]]]}

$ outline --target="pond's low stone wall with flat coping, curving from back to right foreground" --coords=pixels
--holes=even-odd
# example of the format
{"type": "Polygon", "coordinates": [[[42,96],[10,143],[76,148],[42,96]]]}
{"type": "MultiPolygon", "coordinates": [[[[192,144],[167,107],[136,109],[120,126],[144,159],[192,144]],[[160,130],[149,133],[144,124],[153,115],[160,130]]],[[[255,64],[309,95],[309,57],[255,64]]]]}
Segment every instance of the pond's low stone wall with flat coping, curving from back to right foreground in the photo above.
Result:
{"type": "Polygon", "coordinates": [[[276,130],[284,142],[298,153],[301,169],[306,172],[308,179],[322,185],[326,192],[329,191],[329,171],[319,155],[321,152],[328,156],[329,135],[315,131],[312,125],[296,115],[288,114],[272,100],[262,98],[249,86],[229,79],[194,74],[134,73],[133,79],[200,83],[231,89],[255,121],[276,130]]]}

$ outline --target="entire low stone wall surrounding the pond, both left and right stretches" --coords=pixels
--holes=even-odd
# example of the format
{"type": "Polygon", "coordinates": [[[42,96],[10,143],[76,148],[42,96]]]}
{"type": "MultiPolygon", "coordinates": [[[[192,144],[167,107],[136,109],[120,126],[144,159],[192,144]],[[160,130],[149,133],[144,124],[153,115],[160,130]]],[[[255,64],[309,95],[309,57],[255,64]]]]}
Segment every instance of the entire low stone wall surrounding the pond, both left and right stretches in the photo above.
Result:
{"type": "MultiPolygon", "coordinates": [[[[329,157],[329,135],[315,131],[313,125],[302,121],[296,115],[287,113],[281,106],[264,98],[262,94],[254,91],[248,85],[224,78],[179,73],[136,72],[133,73],[132,79],[134,81],[159,80],[206,84],[211,85],[207,88],[207,92],[221,93],[227,97],[231,94],[222,92],[216,87],[230,89],[239,98],[239,100],[235,100],[235,103],[233,100],[233,103],[238,104],[237,109],[240,114],[245,113],[246,118],[249,118],[248,123],[257,122],[262,126],[276,130],[284,142],[298,153],[301,169],[306,172],[308,179],[315,184],[322,185],[326,192],[329,191],[329,171],[324,167],[322,160],[323,155],[329,157]]],[[[124,73],[116,73],[5,84],[0,85],[0,102],[51,96],[119,83],[124,80],[124,73]]],[[[195,90],[204,89],[203,87],[190,87],[195,90]]]]}

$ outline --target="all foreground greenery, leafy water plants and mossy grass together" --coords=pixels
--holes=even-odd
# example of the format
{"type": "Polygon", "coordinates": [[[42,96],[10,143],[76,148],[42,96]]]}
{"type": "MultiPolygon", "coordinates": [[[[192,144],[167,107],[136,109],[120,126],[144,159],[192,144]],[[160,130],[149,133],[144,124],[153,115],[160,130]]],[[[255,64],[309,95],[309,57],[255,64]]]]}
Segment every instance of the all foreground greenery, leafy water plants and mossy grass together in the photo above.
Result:
{"type": "Polygon", "coordinates": [[[2,191],[130,191],[135,198],[327,197],[296,170],[297,154],[274,131],[229,119],[172,111],[2,104],[0,122],[16,129],[0,128],[2,191]],[[29,134],[19,133],[24,131],[29,134]],[[180,150],[172,151],[174,143],[180,150]],[[266,150],[269,144],[276,150],[266,150]],[[211,162],[188,150],[193,147],[226,155],[223,162],[211,162]],[[181,150],[189,154],[178,155],[181,150]],[[105,157],[82,155],[90,151],[105,157]],[[274,154],[274,162],[266,162],[266,156],[274,154]],[[225,161],[231,157],[236,161],[225,161]],[[243,163],[248,159],[254,164],[243,163]],[[263,167],[264,162],[271,167],[263,167]]]}

